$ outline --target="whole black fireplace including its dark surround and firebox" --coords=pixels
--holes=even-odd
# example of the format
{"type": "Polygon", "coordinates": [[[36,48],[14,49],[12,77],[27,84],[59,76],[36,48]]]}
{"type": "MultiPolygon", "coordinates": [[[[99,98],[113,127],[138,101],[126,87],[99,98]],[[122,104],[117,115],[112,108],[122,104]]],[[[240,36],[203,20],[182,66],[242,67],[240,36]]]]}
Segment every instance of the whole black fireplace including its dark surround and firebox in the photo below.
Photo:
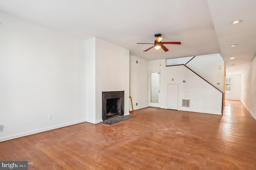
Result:
{"type": "Polygon", "coordinates": [[[102,92],[102,120],[124,116],[124,91],[102,92]]]}

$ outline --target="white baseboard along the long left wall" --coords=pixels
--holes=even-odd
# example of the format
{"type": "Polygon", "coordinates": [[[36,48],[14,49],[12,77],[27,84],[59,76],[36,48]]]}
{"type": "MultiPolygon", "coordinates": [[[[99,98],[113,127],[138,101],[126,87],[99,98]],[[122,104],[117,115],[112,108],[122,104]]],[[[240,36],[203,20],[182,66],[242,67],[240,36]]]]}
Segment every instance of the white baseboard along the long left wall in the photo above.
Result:
{"type": "Polygon", "coordinates": [[[24,133],[20,133],[20,134],[14,134],[14,135],[11,135],[11,136],[6,136],[6,137],[3,137],[3,138],[0,138],[0,142],[15,139],[15,138],[20,138],[20,137],[23,137],[23,136],[28,136],[28,135],[31,135],[31,134],[45,132],[45,131],[48,131],[48,130],[54,130],[56,128],[62,128],[62,127],[67,127],[67,126],[71,126],[71,125],[76,125],[78,123],[84,123],[84,122],[86,122],[86,120],[70,122],[70,123],[66,123],[66,124],[62,124],[62,125],[57,125],[57,126],[48,127],[48,128],[42,128],[42,129],[33,130],[33,131],[30,131],[30,132],[24,132],[24,133]]]}

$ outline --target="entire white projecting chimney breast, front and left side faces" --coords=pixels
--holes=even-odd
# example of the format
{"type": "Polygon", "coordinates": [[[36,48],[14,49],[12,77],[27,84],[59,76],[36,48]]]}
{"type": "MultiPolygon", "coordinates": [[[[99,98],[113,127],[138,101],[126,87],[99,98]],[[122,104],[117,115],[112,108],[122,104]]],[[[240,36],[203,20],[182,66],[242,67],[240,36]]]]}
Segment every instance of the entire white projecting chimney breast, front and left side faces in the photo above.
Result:
{"type": "Polygon", "coordinates": [[[129,50],[92,38],[86,41],[86,121],[102,121],[102,92],[124,91],[129,115],[129,50]]]}

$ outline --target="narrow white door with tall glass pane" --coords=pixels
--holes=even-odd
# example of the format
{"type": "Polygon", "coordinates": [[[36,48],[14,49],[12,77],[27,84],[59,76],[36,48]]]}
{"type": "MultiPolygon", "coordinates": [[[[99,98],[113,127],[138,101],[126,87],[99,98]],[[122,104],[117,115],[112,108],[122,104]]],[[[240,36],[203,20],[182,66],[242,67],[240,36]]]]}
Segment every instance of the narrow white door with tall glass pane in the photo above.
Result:
{"type": "Polygon", "coordinates": [[[151,107],[160,107],[159,93],[160,93],[160,71],[150,71],[149,73],[149,93],[150,99],[148,105],[151,107]]]}

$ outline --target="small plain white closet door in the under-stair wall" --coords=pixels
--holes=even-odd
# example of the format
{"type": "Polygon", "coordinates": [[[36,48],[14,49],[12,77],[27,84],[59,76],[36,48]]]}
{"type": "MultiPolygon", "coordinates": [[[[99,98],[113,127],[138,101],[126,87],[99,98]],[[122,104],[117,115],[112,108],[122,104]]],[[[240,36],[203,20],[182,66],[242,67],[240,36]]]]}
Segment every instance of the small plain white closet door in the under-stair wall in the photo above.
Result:
{"type": "Polygon", "coordinates": [[[167,109],[178,110],[178,84],[168,84],[167,109]]]}

